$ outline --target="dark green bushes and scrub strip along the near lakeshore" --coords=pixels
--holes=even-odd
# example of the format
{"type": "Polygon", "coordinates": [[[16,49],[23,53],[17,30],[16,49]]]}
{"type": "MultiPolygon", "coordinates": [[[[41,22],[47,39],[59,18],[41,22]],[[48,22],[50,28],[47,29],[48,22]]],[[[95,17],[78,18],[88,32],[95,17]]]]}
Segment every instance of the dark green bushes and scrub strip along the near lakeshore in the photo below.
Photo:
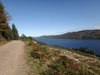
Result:
{"type": "Polygon", "coordinates": [[[91,50],[91,49],[89,49],[87,47],[65,48],[65,47],[58,46],[58,45],[52,45],[52,46],[49,46],[49,47],[54,47],[54,48],[69,50],[71,52],[78,53],[80,55],[84,55],[84,56],[88,56],[88,57],[94,57],[94,56],[96,56],[98,59],[100,59],[100,54],[96,53],[94,50],[91,50]]]}

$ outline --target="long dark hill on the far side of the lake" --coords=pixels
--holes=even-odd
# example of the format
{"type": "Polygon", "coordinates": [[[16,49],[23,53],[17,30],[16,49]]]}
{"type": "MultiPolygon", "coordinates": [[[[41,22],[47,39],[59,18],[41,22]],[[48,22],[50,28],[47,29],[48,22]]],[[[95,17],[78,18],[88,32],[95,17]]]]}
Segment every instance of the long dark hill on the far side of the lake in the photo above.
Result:
{"type": "Polygon", "coordinates": [[[69,32],[61,35],[41,36],[43,38],[65,38],[65,39],[100,39],[100,30],[83,30],[69,32]]]}

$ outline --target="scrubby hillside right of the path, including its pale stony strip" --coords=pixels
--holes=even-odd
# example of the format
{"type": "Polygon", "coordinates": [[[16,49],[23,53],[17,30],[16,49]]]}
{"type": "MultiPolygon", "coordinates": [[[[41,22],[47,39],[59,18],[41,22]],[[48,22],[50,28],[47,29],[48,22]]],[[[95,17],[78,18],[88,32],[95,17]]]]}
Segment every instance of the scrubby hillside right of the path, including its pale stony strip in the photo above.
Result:
{"type": "Polygon", "coordinates": [[[100,68],[92,65],[99,65],[98,59],[94,62],[94,58],[42,45],[36,41],[31,41],[28,47],[31,47],[29,56],[32,59],[30,75],[36,74],[32,72],[34,69],[36,75],[99,75],[100,68]]]}

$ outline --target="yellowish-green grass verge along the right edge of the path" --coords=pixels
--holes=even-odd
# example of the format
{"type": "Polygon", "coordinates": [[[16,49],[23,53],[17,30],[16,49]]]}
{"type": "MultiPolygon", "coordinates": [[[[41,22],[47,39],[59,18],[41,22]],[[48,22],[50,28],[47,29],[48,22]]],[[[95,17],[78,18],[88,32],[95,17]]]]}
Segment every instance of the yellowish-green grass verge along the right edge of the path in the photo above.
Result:
{"type": "MultiPolygon", "coordinates": [[[[30,41],[24,41],[26,46],[25,46],[25,52],[26,52],[26,60],[27,64],[29,65],[29,73],[28,75],[40,75],[40,73],[45,69],[43,65],[40,66],[40,60],[35,59],[31,56],[31,52],[33,48],[31,46],[28,46],[30,41]]],[[[47,64],[49,63],[48,61],[46,62],[47,64]]]]}

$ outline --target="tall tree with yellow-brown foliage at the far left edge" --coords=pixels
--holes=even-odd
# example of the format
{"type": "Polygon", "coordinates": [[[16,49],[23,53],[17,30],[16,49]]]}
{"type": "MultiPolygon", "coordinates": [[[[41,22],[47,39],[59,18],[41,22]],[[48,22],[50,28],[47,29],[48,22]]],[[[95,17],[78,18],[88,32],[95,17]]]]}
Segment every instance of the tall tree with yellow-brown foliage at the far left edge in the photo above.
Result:
{"type": "Polygon", "coordinates": [[[0,2],[0,34],[6,39],[11,40],[12,34],[11,29],[8,25],[10,16],[7,11],[5,11],[3,4],[0,2]]]}

